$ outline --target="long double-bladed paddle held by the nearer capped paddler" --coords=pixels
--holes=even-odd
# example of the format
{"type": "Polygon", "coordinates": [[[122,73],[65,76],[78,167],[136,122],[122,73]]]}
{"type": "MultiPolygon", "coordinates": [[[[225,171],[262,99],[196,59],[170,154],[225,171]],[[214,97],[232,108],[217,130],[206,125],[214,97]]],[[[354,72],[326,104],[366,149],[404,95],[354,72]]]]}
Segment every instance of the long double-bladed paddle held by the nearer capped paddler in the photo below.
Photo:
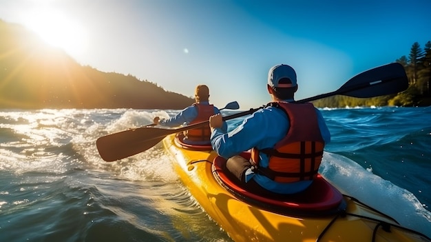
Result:
{"type": "MultiPolygon", "coordinates": [[[[334,95],[345,95],[349,97],[377,97],[402,92],[407,88],[408,79],[403,66],[399,63],[390,63],[388,65],[382,65],[357,74],[334,92],[328,92],[308,99],[302,99],[297,101],[297,103],[304,103],[334,95]]],[[[223,120],[227,121],[229,119],[235,119],[252,114],[263,107],[264,106],[229,115],[227,117],[223,117],[223,120]]],[[[143,127],[125,130],[123,132],[100,137],[97,139],[96,145],[103,160],[116,161],[148,150],[162,141],[162,139],[169,134],[199,128],[203,125],[209,125],[209,121],[202,121],[200,123],[176,129],[143,127]]]]}

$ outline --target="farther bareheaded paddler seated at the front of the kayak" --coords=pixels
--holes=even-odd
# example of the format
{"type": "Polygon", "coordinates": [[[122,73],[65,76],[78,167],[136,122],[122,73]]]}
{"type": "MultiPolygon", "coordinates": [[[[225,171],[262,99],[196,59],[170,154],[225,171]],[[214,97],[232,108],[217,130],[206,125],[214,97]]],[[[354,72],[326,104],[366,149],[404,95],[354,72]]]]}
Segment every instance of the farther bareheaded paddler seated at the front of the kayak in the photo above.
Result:
{"type": "MultiPolygon", "coordinates": [[[[220,110],[218,110],[218,108],[209,104],[209,88],[207,85],[196,86],[195,100],[196,103],[193,103],[193,105],[185,108],[170,119],[160,119],[160,117],[155,117],[153,120],[154,124],[173,128],[184,124],[191,125],[193,123],[207,121],[211,115],[220,114],[220,110]]],[[[222,123],[222,130],[227,130],[226,122],[222,123]]],[[[209,129],[209,126],[204,126],[202,128],[185,131],[185,139],[183,141],[194,145],[205,145],[210,143],[210,135],[211,130],[209,129]]]]}

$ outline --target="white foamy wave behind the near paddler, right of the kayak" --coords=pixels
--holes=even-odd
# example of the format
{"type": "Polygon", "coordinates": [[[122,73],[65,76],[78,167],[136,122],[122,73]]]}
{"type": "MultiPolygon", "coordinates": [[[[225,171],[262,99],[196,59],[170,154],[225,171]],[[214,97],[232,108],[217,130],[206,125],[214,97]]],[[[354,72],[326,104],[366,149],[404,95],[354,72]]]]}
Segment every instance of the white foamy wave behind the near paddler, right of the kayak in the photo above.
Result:
{"type": "Polygon", "coordinates": [[[431,212],[408,190],[330,152],[324,153],[319,172],[343,194],[391,216],[406,228],[431,236],[431,212]]]}

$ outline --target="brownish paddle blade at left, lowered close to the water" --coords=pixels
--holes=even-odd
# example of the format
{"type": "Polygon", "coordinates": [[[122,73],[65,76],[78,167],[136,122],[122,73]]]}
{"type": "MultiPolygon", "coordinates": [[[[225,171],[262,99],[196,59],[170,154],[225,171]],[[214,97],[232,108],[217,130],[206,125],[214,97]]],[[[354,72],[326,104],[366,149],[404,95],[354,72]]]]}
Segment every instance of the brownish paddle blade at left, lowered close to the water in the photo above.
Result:
{"type": "Polygon", "coordinates": [[[117,161],[148,150],[172,133],[175,130],[136,128],[100,137],[96,146],[104,161],[117,161]]]}

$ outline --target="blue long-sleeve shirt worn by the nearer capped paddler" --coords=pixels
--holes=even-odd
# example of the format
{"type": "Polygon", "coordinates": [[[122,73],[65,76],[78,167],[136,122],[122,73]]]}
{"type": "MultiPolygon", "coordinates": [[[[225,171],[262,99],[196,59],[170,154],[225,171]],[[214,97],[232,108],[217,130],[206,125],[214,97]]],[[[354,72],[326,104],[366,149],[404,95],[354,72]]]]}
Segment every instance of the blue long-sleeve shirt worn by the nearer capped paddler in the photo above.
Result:
{"type": "MultiPolygon", "coordinates": [[[[320,111],[317,108],[315,110],[322,138],[325,143],[329,143],[330,132],[328,127],[320,111]]],[[[221,157],[229,159],[254,147],[259,150],[273,148],[275,143],[286,135],[288,128],[290,128],[290,122],[283,110],[266,107],[246,117],[242,124],[231,132],[226,133],[222,129],[214,129],[211,133],[211,145],[221,157]]],[[[269,162],[268,157],[260,153],[259,162],[266,167],[269,162]]],[[[252,178],[267,190],[282,194],[300,192],[311,184],[311,181],[277,183],[261,174],[246,173],[246,181],[252,178]]]]}

